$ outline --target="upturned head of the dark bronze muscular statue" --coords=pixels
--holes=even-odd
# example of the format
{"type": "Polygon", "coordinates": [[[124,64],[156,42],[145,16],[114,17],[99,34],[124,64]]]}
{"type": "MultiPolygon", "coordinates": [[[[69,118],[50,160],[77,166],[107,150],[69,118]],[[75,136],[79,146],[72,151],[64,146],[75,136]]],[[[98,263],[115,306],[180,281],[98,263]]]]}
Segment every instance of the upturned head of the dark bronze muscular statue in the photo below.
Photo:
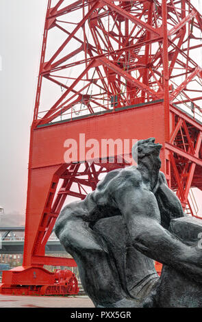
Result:
{"type": "Polygon", "coordinates": [[[147,138],[146,140],[138,140],[132,147],[132,157],[137,163],[148,156],[153,156],[154,159],[160,160],[160,149],[162,145],[155,143],[155,138],[147,138]]]}

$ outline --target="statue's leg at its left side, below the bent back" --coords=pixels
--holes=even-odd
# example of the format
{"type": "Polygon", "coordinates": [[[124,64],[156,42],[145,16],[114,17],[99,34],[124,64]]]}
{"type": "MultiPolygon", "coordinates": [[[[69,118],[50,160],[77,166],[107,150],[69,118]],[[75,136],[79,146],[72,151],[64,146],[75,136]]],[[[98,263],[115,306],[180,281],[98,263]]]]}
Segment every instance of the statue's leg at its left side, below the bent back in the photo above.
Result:
{"type": "Polygon", "coordinates": [[[89,223],[68,219],[58,237],[77,262],[81,283],[95,306],[108,306],[125,297],[114,261],[89,223]]]}

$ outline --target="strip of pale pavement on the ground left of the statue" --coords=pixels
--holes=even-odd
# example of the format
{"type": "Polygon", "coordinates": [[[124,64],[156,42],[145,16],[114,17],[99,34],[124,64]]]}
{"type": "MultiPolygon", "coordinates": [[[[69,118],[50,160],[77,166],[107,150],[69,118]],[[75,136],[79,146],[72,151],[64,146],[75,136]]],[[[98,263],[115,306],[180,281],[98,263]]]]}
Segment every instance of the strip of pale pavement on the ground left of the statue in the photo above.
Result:
{"type": "Polygon", "coordinates": [[[88,296],[21,296],[0,294],[0,308],[94,308],[88,296]]]}

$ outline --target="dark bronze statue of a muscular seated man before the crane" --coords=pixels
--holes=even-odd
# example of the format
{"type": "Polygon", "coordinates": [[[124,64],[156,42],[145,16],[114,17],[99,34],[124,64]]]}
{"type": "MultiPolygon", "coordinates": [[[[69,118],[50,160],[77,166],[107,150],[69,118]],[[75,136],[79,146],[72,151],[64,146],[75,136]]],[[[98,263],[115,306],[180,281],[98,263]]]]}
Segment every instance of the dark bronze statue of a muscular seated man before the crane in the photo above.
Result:
{"type": "MultiPolygon", "coordinates": [[[[192,299],[202,297],[202,251],[195,245],[202,225],[192,223],[197,229],[191,241],[179,233],[189,223],[160,172],[161,148],[154,138],[139,140],[132,149],[138,166],[109,172],[84,201],[64,207],[55,224],[96,307],[175,306],[175,298],[182,297],[173,284],[169,288],[169,280],[175,280],[171,272],[178,287],[184,277],[189,290],[198,287],[192,299]],[[164,264],[160,278],[153,260],[164,264]]],[[[190,305],[189,297],[179,301],[179,306],[190,305]]],[[[201,300],[194,303],[202,306],[201,300]]]]}

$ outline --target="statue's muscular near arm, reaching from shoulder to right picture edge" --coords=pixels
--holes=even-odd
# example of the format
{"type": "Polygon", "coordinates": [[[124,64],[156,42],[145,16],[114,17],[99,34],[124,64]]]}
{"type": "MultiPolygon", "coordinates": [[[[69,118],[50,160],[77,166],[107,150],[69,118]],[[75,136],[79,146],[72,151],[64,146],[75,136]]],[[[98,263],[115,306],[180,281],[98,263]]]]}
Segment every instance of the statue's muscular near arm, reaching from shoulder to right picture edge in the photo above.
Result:
{"type": "Polygon", "coordinates": [[[160,225],[160,211],[153,193],[130,185],[115,193],[115,199],[136,249],[202,282],[202,252],[185,245],[160,225]]]}

